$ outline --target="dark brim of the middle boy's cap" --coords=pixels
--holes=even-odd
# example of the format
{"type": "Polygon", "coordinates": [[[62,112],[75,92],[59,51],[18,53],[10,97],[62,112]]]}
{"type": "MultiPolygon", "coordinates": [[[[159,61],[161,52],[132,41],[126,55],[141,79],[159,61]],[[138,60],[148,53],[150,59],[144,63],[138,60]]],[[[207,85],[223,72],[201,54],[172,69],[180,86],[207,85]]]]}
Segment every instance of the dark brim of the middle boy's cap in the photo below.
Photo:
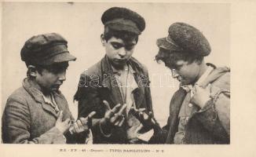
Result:
{"type": "Polygon", "coordinates": [[[135,35],[141,35],[141,31],[137,27],[130,24],[108,24],[108,27],[115,31],[128,31],[134,33],[135,35]]]}

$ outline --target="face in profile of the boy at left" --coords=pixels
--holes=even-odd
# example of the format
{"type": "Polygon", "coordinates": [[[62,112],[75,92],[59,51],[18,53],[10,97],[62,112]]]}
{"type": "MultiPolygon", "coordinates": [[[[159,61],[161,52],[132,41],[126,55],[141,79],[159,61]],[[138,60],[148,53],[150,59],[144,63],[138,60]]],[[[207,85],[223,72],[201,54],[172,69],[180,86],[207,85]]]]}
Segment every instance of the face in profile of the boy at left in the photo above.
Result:
{"type": "Polygon", "coordinates": [[[41,74],[37,71],[35,82],[47,92],[57,91],[66,80],[68,62],[50,65],[43,68],[41,74]]]}

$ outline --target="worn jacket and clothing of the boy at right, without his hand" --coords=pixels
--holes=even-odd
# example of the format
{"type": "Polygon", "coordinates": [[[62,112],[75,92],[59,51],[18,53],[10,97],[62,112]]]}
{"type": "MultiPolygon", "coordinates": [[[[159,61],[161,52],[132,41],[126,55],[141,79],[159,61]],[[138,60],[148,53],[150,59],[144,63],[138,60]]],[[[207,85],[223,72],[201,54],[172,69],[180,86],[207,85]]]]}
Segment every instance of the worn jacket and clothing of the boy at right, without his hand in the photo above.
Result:
{"type": "Polygon", "coordinates": [[[173,144],[175,141],[181,144],[229,144],[230,69],[215,68],[200,82],[203,87],[209,84],[211,100],[201,109],[196,105],[195,108],[188,107],[190,111],[186,115],[191,113],[189,116],[182,115],[185,110],[182,106],[188,106],[191,93],[183,88],[174,93],[167,125],[155,133],[152,143],[173,144]],[[177,139],[179,136],[182,138],[177,139]]]}

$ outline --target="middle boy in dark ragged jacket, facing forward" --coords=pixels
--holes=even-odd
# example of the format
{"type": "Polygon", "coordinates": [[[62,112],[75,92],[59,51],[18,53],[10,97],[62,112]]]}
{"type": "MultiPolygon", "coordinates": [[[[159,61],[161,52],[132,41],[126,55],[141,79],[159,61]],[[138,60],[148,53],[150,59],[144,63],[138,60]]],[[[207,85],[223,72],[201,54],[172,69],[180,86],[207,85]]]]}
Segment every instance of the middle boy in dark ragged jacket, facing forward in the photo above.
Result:
{"type": "Polygon", "coordinates": [[[79,117],[97,112],[92,128],[95,144],[143,143],[138,137],[151,128],[141,118],[144,113],[152,116],[152,99],[148,71],[132,54],[144,31],[144,18],[130,9],[113,7],[101,21],[106,55],[80,77],[75,93],[79,117]]]}

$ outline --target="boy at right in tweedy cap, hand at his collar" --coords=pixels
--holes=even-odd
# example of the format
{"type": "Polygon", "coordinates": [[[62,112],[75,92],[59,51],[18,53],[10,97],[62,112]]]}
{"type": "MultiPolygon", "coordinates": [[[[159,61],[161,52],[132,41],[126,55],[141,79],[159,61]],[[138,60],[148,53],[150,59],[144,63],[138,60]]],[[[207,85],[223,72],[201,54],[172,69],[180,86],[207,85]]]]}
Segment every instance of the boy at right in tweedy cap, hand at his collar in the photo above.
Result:
{"type": "Polygon", "coordinates": [[[189,24],[174,23],[156,42],[162,60],[181,88],[170,102],[167,125],[152,141],[166,144],[229,144],[230,69],[206,64],[207,38],[189,24]],[[162,141],[159,141],[162,139],[162,141]]]}

